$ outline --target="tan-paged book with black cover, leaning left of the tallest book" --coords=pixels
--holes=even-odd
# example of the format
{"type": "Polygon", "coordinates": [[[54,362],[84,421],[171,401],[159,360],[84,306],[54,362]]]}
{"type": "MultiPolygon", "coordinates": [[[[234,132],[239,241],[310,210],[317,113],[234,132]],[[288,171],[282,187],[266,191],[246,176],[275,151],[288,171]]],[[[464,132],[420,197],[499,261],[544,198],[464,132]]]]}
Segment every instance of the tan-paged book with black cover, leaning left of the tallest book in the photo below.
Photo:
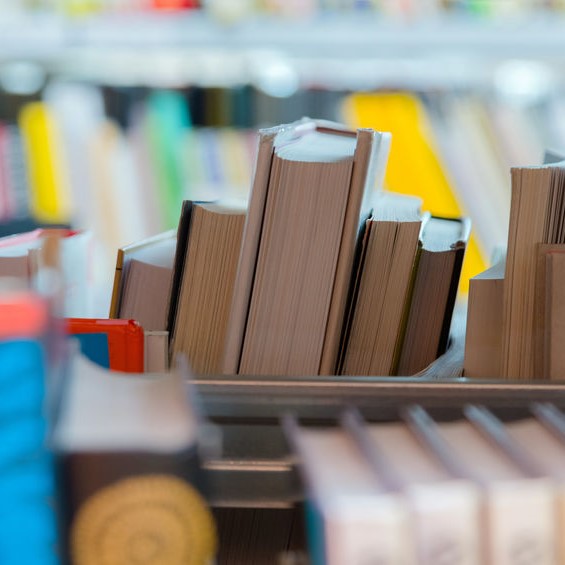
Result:
{"type": "Polygon", "coordinates": [[[171,357],[220,373],[246,217],[244,202],[192,203],[171,336],[171,357]]]}

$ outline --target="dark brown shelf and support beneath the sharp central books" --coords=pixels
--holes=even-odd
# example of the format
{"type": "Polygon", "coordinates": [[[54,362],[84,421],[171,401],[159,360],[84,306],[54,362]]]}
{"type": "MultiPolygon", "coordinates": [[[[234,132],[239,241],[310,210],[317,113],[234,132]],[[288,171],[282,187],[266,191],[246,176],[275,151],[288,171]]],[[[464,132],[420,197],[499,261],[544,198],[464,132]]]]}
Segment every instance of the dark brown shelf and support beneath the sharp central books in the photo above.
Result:
{"type": "Polygon", "coordinates": [[[467,404],[500,418],[527,414],[534,402],[565,408],[565,382],[411,377],[202,377],[195,386],[204,413],[223,436],[221,458],[205,465],[216,507],[290,508],[303,499],[295,460],[280,427],[285,414],[306,424],[336,423],[348,406],[369,422],[395,421],[418,404],[441,420],[467,404]]]}

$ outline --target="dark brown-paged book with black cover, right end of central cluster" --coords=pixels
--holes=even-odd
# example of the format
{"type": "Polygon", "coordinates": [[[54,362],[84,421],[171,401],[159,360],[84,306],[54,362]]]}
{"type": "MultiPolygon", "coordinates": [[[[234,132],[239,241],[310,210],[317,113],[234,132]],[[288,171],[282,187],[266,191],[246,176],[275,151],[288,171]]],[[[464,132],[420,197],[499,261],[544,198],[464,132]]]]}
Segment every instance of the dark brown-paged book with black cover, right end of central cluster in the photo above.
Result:
{"type": "Polygon", "coordinates": [[[468,218],[432,216],[424,226],[399,375],[418,373],[447,348],[470,232],[468,218]]]}

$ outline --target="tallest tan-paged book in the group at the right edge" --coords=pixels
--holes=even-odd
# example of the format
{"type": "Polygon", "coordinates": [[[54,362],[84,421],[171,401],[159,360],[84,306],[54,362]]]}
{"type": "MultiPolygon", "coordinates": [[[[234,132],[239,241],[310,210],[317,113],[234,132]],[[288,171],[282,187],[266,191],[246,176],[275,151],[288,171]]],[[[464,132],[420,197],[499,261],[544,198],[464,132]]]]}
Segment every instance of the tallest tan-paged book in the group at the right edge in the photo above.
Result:
{"type": "Polygon", "coordinates": [[[504,281],[502,375],[535,378],[538,244],[564,241],[565,168],[514,168],[504,281]]]}

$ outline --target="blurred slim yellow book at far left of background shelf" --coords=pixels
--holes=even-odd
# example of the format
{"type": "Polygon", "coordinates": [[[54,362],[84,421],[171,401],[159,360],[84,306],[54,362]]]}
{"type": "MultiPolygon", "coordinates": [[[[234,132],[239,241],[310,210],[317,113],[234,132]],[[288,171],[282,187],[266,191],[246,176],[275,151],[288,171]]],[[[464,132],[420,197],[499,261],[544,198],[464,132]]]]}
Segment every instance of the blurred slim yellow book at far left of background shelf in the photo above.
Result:
{"type": "Polygon", "coordinates": [[[70,190],[51,110],[42,102],[33,102],[23,108],[19,122],[27,153],[32,214],[40,222],[67,223],[70,190]]]}

